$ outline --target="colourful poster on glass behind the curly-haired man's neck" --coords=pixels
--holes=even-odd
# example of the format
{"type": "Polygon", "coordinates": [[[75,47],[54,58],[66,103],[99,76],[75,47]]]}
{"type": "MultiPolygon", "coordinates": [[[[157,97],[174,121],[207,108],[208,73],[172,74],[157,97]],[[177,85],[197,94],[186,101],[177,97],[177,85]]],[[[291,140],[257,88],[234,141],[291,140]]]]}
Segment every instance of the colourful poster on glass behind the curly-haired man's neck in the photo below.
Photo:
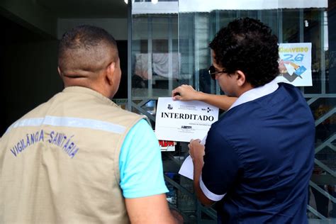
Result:
{"type": "Polygon", "coordinates": [[[279,44],[278,82],[294,86],[313,86],[311,74],[311,43],[279,44]]]}

